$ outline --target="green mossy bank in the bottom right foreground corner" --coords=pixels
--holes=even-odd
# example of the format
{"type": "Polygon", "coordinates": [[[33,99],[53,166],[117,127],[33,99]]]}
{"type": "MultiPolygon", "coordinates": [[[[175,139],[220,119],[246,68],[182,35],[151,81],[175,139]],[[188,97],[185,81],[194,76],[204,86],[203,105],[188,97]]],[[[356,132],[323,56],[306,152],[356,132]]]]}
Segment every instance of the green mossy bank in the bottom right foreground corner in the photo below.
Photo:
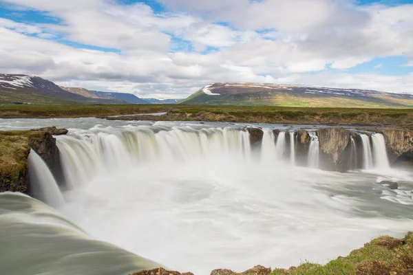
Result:
{"type": "Polygon", "coordinates": [[[290,270],[275,269],[272,275],[402,275],[412,268],[413,232],[409,232],[405,239],[381,236],[326,265],[303,263],[290,270]]]}

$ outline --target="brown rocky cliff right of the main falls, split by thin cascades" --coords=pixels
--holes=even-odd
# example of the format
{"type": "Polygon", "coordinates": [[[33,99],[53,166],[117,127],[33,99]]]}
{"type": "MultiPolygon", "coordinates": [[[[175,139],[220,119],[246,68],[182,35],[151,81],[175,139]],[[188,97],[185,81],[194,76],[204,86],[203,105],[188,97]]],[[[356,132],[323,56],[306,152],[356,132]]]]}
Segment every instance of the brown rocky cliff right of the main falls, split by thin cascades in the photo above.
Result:
{"type": "MultiPolygon", "coordinates": [[[[258,128],[249,128],[253,148],[261,148],[263,132],[258,128]]],[[[279,130],[274,130],[275,140],[279,130]]],[[[363,148],[359,133],[382,133],[388,151],[390,164],[396,162],[413,163],[413,131],[398,129],[346,129],[346,128],[323,128],[315,133],[319,138],[320,168],[345,172],[346,170],[363,168],[363,148]],[[355,153],[352,153],[352,140],[354,141],[355,153]]],[[[308,149],[310,147],[310,135],[306,130],[295,131],[295,140],[290,140],[286,135],[286,154],[289,155],[290,142],[295,142],[295,158],[297,165],[305,166],[307,162],[308,149]]]]}

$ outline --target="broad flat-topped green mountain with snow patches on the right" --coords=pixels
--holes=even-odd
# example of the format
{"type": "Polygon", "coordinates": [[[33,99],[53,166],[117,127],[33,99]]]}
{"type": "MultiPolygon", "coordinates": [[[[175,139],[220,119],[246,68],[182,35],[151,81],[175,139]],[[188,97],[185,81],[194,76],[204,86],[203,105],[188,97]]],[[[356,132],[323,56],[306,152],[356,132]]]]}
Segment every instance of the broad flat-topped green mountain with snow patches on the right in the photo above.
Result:
{"type": "Polygon", "coordinates": [[[290,107],[413,107],[413,95],[262,83],[212,83],[180,104],[290,107]]]}

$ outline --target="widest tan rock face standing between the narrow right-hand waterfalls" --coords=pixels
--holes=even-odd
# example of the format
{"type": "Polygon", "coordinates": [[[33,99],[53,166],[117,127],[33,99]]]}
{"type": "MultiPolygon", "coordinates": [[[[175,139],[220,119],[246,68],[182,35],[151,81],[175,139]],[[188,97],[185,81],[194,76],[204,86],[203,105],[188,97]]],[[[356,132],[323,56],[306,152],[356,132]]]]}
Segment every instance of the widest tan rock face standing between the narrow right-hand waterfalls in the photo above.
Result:
{"type": "Polygon", "coordinates": [[[341,172],[348,169],[350,134],[350,130],[343,128],[324,128],[317,131],[321,166],[328,170],[341,172]]]}

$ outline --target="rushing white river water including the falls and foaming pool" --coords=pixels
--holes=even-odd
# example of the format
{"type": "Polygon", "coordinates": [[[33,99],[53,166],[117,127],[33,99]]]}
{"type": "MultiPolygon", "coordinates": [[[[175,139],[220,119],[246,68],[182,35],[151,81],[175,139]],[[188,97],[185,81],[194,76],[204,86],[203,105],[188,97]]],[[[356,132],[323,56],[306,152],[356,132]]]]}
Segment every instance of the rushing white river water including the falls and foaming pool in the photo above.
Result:
{"type": "Polygon", "coordinates": [[[369,170],[335,173],[317,168],[311,131],[308,166],[295,166],[295,144],[284,140],[300,126],[261,124],[256,150],[247,124],[0,120],[1,130],[50,125],[70,129],[57,137],[67,187],[56,189],[33,155],[45,175],[33,177],[49,179],[36,186],[52,185],[38,198],[54,208],[0,195],[6,274],[128,274],[163,265],[206,275],[326,263],[413,228],[413,173],[388,168],[380,135],[369,151],[353,152],[368,155],[369,170]],[[266,129],[283,132],[276,139],[266,129]],[[376,184],[385,179],[399,190],[376,184]]]}

